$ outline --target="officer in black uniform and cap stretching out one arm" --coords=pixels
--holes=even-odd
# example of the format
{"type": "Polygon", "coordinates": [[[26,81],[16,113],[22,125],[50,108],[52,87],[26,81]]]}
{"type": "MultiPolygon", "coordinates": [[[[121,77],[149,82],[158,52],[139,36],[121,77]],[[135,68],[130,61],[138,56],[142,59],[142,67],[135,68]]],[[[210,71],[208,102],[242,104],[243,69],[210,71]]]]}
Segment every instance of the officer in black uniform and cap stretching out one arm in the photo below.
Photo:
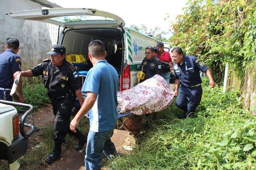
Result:
{"type": "MultiPolygon", "coordinates": [[[[70,115],[73,108],[75,96],[79,99],[80,105],[83,105],[83,98],[80,89],[79,76],[76,68],[65,59],[66,48],[62,45],[52,45],[52,50],[47,54],[50,59],[44,60],[38,66],[31,70],[21,71],[20,76],[32,77],[42,75],[44,86],[48,89],[48,96],[52,101],[54,119],[54,150],[47,156],[45,161],[52,163],[60,157],[61,143],[67,133],[73,134],[79,139],[75,149],[80,150],[87,141],[78,129],[76,133],[69,128],[70,115]]],[[[16,77],[19,72],[16,72],[16,77]]]]}

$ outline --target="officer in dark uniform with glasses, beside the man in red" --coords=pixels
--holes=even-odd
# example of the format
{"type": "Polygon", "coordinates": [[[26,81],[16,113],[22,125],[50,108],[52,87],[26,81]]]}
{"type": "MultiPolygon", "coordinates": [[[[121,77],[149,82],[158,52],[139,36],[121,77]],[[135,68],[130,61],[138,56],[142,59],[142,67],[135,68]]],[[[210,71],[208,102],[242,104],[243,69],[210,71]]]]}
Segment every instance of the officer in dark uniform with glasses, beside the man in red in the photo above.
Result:
{"type": "Polygon", "coordinates": [[[162,63],[154,56],[154,48],[152,46],[148,46],[145,49],[145,56],[146,57],[142,60],[140,66],[141,70],[145,74],[145,78],[141,79],[140,82],[143,82],[156,74],[162,76],[162,63]]]}

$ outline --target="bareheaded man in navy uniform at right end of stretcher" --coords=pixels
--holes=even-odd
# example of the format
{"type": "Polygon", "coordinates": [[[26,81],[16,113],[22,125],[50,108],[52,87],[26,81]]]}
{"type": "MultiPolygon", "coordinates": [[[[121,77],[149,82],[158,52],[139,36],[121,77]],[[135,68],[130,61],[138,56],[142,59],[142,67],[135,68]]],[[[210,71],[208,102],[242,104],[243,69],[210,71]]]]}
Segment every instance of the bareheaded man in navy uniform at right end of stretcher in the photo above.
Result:
{"type": "Polygon", "coordinates": [[[215,82],[209,68],[204,65],[204,62],[193,56],[184,56],[180,47],[173,48],[171,52],[172,59],[175,62],[176,106],[184,111],[183,116],[186,118],[190,115],[193,116],[196,108],[201,102],[203,91],[199,71],[207,74],[211,88],[215,87],[215,82]]]}

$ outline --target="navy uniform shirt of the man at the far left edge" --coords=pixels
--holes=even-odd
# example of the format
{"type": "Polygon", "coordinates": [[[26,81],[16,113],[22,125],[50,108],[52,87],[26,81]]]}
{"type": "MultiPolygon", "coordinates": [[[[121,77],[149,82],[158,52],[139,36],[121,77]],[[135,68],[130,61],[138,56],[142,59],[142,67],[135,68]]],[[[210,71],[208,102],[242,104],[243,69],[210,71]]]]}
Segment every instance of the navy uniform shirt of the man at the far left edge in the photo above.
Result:
{"type": "Polygon", "coordinates": [[[11,49],[0,54],[0,88],[12,88],[13,74],[21,71],[20,57],[11,49]]]}

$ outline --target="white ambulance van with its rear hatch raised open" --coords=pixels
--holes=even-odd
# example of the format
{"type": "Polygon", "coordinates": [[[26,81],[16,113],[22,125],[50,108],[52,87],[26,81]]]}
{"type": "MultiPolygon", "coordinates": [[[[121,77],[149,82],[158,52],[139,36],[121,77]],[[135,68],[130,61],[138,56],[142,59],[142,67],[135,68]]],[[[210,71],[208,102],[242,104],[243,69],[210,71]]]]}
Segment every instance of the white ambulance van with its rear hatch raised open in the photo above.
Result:
{"type": "MultiPolygon", "coordinates": [[[[88,45],[93,40],[105,43],[106,60],[114,65],[119,75],[119,91],[137,85],[137,73],[145,57],[147,46],[156,46],[157,40],[125,27],[125,21],[115,14],[89,8],[49,8],[10,12],[15,19],[34,20],[59,26],[58,44],[66,47],[66,55],[84,55],[88,58],[88,45]],[[114,56],[121,44],[121,57],[114,56]],[[117,63],[116,63],[117,62],[117,63]]],[[[79,69],[88,71],[89,63],[79,69]]]]}

